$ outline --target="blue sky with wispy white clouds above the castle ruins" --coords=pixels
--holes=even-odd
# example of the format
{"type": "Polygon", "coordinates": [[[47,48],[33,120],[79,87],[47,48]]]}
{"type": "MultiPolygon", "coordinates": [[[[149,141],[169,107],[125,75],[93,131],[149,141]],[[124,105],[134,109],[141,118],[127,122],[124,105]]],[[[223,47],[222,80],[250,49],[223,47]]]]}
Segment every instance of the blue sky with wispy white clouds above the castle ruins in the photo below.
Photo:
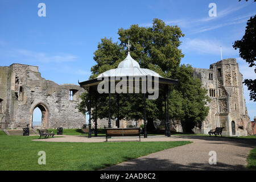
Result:
{"type": "MultiPolygon", "coordinates": [[[[96,64],[93,52],[101,38],[118,42],[118,28],[131,24],[151,26],[159,18],[177,25],[185,34],[180,46],[181,63],[209,68],[222,57],[236,58],[244,78],[255,78],[232,43],[242,38],[246,22],[256,14],[256,3],[225,1],[48,1],[0,0],[0,66],[13,63],[39,67],[42,77],[57,84],[77,84],[90,76],[96,64]],[[46,4],[46,17],[38,16],[38,4],[46,4]],[[209,3],[216,3],[217,16],[209,17],[209,3]]],[[[255,102],[244,88],[251,120],[255,102]]]]}

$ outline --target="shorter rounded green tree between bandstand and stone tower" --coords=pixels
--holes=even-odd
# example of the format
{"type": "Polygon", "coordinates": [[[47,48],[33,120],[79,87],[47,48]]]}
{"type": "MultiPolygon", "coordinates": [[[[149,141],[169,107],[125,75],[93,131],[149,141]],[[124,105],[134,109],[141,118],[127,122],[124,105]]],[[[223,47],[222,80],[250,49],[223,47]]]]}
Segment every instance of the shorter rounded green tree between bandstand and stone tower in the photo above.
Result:
{"type": "MultiPolygon", "coordinates": [[[[182,99],[182,111],[178,112],[178,115],[174,118],[180,117],[183,131],[191,133],[193,127],[204,121],[208,115],[209,107],[205,106],[207,102],[210,102],[210,98],[205,96],[207,90],[201,88],[201,81],[199,78],[193,78],[193,68],[191,65],[180,65],[177,69],[175,79],[179,80],[179,84],[176,85],[176,90],[181,94],[182,99]]],[[[175,90],[175,89],[174,89],[175,90]]],[[[175,101],[176,95],[170,98],[170,103],[175,101]]],[[[173,107],[177,109],[177,107],[173,107]]]]}

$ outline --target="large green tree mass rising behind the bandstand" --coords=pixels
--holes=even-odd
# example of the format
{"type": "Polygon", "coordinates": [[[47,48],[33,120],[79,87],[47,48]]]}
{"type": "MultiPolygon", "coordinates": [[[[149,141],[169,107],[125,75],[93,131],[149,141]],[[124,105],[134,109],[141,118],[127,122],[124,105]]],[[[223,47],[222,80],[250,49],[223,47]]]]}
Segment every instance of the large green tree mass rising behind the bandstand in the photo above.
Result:
{"type": "MultiPolygon", "coordinates": [[[[190,65],[180,65],[184,56],[179,49],[180,38],[184,36],[177,26],[168,26],[160,19],[154,19],[152,27],[139,27],[131,25],[128,29],[118,30],[119,43],[112,39],[101,39],[93,59],[96,61],[91,69],[91,78],[109,69],[117,68],[118,64],[127,55],[126,44],[130,39],[131,56],[139,62],[141,68],[152,69],[166,78],[179,80],[179,84],[170,88],[169,113],[170,118],[180,119],[185,131],[191,131],[195,123],[200,123],[208,114],[208,97],[206,90],[201,88],[198,78],[193,78],[193,69],[190,65]]],[[[108,94],[92,98],[98,99],[98,117],[108,117],[108,94]]],[[[112,94],[111,117],[117,117],[116,96],[112,94]]],[[[119,118],[143,119],[143,100],[141,94],[120,94],[119,118]]],[[[85,113],[88,106],[88,94],[82,95],[80,111],[85,113]]],[[[164,95],[160,92],[158,100],[147,100],[147,121],[149,129],[154,129],[154,119],[164,119],[164,95]]],[[[94,104],[92,103],[94,108],[94,104]]],[[[94,116],[94,110],[92,112],[94,116]]]]}

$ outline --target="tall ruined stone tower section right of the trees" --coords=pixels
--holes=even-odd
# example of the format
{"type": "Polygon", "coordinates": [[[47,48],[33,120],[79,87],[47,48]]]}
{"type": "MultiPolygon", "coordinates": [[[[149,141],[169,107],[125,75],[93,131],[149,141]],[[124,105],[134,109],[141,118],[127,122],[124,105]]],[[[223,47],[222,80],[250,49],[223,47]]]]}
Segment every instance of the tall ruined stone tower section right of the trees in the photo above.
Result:
{"type": "Polygon", "coordinates": [[[209,113],[195,133],[208,134],[210,129],[224,127],[224,135],[246,136],[251,131],[250,118],[243,96],[242,74],[236,59],[211,64],[210,69],[194,68],[193,77],[200,78],[211,101],[209,113]]]}

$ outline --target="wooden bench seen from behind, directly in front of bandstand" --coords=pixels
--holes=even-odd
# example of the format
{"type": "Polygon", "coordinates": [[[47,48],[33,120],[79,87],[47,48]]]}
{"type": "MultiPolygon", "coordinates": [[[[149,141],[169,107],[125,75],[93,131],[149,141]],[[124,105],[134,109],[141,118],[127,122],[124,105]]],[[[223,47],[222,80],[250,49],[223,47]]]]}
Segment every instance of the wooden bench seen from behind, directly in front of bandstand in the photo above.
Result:
{"type": "Polygon", "coordinates": [[[139,136],[139,142],[141,142],[141,128],[131,127],[127,129],[111,129],[106,128],[106,142],[108,137],[128,137],[128,136],[139,136]]]}

